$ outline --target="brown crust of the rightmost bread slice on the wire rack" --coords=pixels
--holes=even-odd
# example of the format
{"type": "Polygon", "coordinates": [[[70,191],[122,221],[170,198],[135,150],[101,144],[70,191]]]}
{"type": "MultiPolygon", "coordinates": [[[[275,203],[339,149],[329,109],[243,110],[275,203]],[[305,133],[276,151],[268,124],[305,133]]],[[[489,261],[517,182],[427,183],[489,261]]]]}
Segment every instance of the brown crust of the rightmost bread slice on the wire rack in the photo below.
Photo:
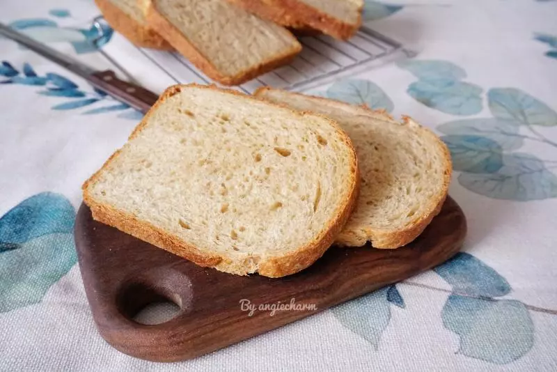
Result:
{"type": "Polygon", "coordinates": [[[342,22],[299,0],[227,0],[251,13],[284,26],[315,29],[340,40],[349,39],[361,25],[361,11],[356,24],[342,22]]]}

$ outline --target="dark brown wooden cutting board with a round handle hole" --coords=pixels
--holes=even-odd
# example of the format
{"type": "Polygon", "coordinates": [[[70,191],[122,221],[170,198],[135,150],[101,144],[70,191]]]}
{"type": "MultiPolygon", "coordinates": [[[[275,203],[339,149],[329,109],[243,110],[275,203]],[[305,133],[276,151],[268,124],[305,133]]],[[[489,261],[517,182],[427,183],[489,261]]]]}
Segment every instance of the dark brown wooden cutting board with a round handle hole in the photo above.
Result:
{"type": "Polygon", "coordinates": [[[429,270],[455,255],[464,235],[464,214],[448,198],[407,247],[332,247],[310,268],[271,279],[201,268],[93,221],[85,205],[75,224],[79,268],[101,336],[121,352],[157,362],[198,357],[429,270]],[[161,300],[178,304],[178,316],[159,325],[133,320],[161,300]],[[294,301],[295,309],[274,316],[257,309],[249,316],[242,300],[256,307],[294,301]]]}

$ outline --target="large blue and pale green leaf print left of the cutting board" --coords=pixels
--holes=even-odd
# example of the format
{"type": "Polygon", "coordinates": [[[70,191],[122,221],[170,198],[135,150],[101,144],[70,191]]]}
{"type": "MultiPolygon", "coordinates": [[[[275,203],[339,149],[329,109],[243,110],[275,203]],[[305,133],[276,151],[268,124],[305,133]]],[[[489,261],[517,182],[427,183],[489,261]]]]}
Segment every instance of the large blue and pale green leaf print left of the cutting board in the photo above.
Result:
{"type": "Polygon", "coordinates": [[[60,194],[31,196],[0,218],[0,312],[40,302],[76,262],[75,211],[60,194]]]}

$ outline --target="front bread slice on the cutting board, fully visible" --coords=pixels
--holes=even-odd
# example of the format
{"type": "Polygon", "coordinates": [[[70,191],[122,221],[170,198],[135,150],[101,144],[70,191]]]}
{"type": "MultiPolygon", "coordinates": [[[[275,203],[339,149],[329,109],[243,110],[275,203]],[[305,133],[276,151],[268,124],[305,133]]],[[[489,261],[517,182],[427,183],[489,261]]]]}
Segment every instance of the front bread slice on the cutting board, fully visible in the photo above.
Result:
{"type": "Polygon", "coordinates": [[[93,218],[202,266],[283,277],[311,265],[359,189],[329,118],[214,86],[173,86],[83,186],[93,218]]]}

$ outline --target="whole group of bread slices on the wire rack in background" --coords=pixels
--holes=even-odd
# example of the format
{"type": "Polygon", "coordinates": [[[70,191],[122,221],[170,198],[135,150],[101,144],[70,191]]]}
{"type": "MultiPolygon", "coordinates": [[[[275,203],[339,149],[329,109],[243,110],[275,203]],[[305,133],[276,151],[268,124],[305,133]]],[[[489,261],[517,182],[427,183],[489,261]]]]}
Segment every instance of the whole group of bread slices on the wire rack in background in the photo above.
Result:
{"type": "Polygon", "coordinates": [[[95,2],[113,29],[138,47],[175,49],[224,85],[242,84],[290,62],[301,45],[289,29],[350,38],[363,7],[363,0],[95,2]]]}

